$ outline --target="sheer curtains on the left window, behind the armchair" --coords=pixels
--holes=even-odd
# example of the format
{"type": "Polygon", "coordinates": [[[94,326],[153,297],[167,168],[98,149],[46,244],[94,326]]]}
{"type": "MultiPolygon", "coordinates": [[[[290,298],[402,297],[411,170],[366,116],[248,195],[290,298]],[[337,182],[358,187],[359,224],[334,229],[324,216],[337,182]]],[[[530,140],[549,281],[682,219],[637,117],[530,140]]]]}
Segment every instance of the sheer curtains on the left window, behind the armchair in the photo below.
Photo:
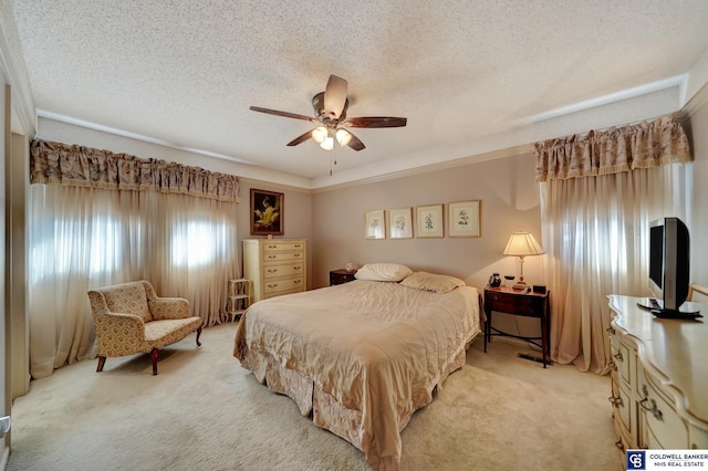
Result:
{"type": "Polygon", "coordinates": [[[149,280],[210,326],[238,278],[236,202],[157,191],[31,185],[30,373],[95,356],[86,292],[149,280]]]}

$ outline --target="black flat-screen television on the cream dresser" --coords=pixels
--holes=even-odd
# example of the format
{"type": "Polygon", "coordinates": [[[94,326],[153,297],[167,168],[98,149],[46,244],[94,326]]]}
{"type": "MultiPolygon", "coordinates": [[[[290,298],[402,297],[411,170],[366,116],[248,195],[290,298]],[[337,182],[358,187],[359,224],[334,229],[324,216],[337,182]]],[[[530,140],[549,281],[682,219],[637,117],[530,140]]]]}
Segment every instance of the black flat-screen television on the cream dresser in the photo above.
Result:
{"type": "Polygon", "coordinates": [[[678,218],[663,218],[649,223],[649,299],[657,317],[696,317],[688,295],[690,238],[678,218]]]}

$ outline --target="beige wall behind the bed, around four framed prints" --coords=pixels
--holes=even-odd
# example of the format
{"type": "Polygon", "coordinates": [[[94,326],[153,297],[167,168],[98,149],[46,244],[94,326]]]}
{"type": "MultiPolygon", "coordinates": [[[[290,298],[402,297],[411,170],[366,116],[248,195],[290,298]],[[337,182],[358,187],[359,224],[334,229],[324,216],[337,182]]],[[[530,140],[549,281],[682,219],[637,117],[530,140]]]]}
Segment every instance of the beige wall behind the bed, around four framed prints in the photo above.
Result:
{"type": "MultiPolygon", "coordinates": [[[[329,284],[330,270],[347,262],[397,262],[413,270],[447,273],[483,287],[492,272],[518,275],[516,259],[502,255],[509,234],[531,231],[541,242],[534,158],[520,155],[386,181],[322,190],[312,198],[313,282],[329,284]],[[364,214],[377,209],[414,208],[481,200],[481,237],[364,239],[364,214]]],[[[415,227],[414,227],[415,232],[415,227]]],[[[541,258],[529,258],[524,278],[540,280],[541,258]]]]}

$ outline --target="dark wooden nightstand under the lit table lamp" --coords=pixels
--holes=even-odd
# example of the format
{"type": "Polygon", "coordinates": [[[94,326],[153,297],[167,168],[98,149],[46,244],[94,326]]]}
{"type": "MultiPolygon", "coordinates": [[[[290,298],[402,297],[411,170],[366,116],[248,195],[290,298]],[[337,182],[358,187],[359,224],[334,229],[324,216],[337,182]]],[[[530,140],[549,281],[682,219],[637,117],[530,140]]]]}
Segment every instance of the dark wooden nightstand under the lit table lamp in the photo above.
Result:
{"type": "Polygon", "coordinates": [[[487,353],[487,342],[491,341],[492,335],[508,336],[520,338],[532,343],[541,348],[543,352],[543,358],[535,358],[530,355],[519,354],[520,357],[532,359],[551,365],[550,352],[551,352],[551,303],[550,294],[533,293],[520,290],[512,290],[511,287],[491,287],[485,289],[485,313],[487,314],[487,322],[485,323],[485,353],[487,353]],[[501,332],[491,326],[492,312],[507,313],[511,315],[520,315],[524,317],[538,317],[541,320],[541,336],[540,337],[523,337],[520,335],[508,334],[501,332]],[[494,331],[492,333],[492,331],[494,331]],[[538,341],[541,341],[539,345],[538,341]]]}

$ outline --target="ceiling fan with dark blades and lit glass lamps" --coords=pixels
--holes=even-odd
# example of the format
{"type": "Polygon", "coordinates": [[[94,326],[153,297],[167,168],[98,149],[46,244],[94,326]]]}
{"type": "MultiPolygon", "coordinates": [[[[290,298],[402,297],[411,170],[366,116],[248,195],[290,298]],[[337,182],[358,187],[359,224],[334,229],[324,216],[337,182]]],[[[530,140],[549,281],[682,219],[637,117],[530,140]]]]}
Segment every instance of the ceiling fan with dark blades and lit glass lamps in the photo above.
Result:
{"type": "Polygon", "coordinates": [[[366,146],[354,136],[347,128],[352,127],[403,127],[407,119],[404,117],[391,116],[368,116],[368,117],[346,117],[346,109],[350,102],[346,98],[346,81],[336,75],[330,75],[327,86],[324,92],[320,92],[312,97],[312,106],[315,117],[299,115],[275,109],[251,106],[254,112],[266,113],[275,116],[283,116],[294,119],[309,121],[317,125],[314,129],[295,137],[289,146],[296,146],[309,138],[320,144],[325,150],[332,150],[334,139],[342,146],[348,146],[354,150],[362,150],[366,146]]]}

